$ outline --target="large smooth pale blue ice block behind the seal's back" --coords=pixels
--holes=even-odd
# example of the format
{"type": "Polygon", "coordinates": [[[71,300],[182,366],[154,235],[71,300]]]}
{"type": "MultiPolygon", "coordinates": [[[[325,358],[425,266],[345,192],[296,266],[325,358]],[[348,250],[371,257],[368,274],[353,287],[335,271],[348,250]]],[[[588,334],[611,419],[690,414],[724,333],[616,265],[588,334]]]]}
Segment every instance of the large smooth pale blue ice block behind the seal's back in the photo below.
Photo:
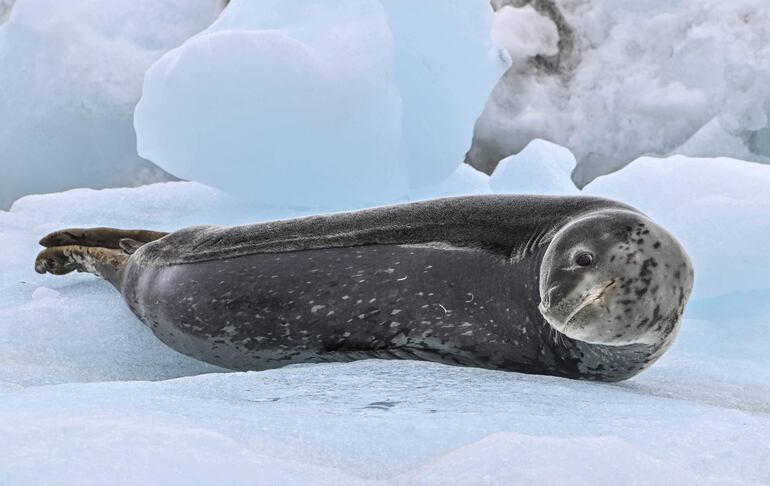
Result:
{"type": "Polygon", "coordinates": [[[463,160],[504,65],[491,19],[483,0],[234,0],[148,71],[139,153],[260,203],[403,198],[463,160]]]}

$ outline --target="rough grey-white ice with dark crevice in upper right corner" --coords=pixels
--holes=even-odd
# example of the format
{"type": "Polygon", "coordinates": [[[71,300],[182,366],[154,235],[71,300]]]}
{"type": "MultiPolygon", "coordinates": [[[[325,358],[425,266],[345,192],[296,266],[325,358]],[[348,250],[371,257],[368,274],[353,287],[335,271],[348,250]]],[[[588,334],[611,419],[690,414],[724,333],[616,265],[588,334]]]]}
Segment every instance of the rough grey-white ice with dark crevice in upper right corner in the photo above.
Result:
{"type": "Polygon", "coordinates": [[[575,153],[580,185],[643,155],[770,162],[765,0],[494,3],[513,64],[476,127],[480,170],[534,138],[575,153]]]}

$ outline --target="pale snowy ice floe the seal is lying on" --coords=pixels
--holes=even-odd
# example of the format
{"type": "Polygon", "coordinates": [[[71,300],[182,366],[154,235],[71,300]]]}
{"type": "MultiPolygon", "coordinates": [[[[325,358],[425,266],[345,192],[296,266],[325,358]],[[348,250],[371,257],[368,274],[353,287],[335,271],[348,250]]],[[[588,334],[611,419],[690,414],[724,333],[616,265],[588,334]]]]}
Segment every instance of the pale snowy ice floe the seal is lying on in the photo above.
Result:
{"type": "MultiPolygon", "coordinates": [[[[770,292],[752,277],[770,241],[770,201],[752,184],[770,167],[669,160],[656,173],[689,180],[684,201],[681,189],[643,190],[654,162],[592,190],[660,213],[697,250],[696,294],[674,348],[619,384],[406,361],[226,373],[163,346],[106,283],[35,274],[36,242],[67,226],[297,213],[248,210],[194,183],[25,197],[0,211],[0,484],[770,483],[770,292]],[[716,196],[710,180],[724,186],[716,196]],[[693,201],[710,225],[687,216],[693,201]],[[709,239],[729,246],[709,253],[709,239]],[[714,258],[721,274],[707,269],[714,258]]],[[[492,188],[510,190],[523,170],[549,192],[574,159],[541,144],[504,165],[492,188]]],[[[462,169],[434,194],[488,192],[485,177],[462,169]]]]}

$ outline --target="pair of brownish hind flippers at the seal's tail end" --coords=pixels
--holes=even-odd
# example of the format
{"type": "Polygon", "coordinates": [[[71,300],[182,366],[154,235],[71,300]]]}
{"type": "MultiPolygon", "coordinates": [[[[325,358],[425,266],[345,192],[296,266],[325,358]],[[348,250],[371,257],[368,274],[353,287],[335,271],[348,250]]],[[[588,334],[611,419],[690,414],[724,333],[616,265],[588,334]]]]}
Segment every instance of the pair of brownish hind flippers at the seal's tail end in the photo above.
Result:
{"type": "Polygon", "coordinates": [[[126,266],[129,256],[142,245],[167,234],[113,228],[56,231],[40,240],[46,249],[37,255],[35,271],[54,275],[87,272],[117,287],[120,271],[126,266]]]}

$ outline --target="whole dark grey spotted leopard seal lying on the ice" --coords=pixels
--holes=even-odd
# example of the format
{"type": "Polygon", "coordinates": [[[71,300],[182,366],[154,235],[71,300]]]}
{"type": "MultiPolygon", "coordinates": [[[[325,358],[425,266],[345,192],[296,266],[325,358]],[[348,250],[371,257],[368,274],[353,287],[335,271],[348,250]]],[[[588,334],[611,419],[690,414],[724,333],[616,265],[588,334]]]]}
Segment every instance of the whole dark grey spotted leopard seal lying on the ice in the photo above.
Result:
{"type": "Polygon", "coordinates": [[[99,275],[168,346],[235,370],[401,358],[619,381],[668,349],[693,284],[674,236],[591,197],[69,229],[41,244],[38,272],[99,275]]]}

